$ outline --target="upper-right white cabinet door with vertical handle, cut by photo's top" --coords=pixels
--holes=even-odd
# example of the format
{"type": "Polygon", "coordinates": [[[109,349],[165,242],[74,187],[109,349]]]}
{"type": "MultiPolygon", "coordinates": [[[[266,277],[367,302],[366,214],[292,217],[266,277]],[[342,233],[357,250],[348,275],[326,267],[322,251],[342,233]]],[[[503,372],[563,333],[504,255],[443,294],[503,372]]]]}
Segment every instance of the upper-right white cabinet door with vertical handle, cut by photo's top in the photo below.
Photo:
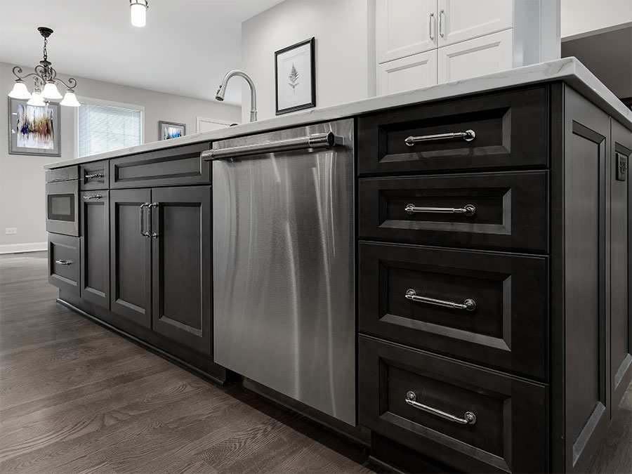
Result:
{"type": "Polygon", "coordinates": [[[513,0],[438,0],[437,4],[439,46],[513,26],[513,0]]]}

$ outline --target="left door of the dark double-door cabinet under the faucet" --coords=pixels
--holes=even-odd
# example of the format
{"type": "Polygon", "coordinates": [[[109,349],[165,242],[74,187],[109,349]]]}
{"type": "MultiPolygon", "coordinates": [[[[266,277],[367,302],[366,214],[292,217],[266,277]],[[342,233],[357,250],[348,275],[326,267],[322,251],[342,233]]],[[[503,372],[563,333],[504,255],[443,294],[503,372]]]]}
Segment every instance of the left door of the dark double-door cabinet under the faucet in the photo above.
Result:
{"type": "Polygon", "coordinates": [[[143,327],[151,319],[152,239],[140,234],[151,190],[110,192],[110,310],[143,327]]]}

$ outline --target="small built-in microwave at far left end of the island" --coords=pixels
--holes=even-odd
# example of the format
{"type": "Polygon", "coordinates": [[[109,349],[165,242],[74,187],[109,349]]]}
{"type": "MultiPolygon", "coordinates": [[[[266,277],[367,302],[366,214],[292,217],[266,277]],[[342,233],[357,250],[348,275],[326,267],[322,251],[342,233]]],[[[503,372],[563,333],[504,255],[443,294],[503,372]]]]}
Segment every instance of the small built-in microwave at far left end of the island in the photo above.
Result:
{"type": "Polygon", "coordinates": [[[79,237],[77,166],[46,172],[46,230],[79,237]]]}

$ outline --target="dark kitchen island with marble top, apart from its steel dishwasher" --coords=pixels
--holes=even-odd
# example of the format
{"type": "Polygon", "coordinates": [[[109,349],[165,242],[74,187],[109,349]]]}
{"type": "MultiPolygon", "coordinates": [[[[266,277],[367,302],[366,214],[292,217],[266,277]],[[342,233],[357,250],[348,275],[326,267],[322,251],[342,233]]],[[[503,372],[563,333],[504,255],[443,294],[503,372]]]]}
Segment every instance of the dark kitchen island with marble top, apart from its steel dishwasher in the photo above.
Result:
{"type": "Polygon", "coordinates": [[[266,394],[404,470],[581,472],[632,374],[632,112],[572,58],[50,164],[78,187],[76,230],[48,228],[58,301],[239,378],[213,358],[201,155],[338,119],[354,124],[357,422],[266,394]]]}

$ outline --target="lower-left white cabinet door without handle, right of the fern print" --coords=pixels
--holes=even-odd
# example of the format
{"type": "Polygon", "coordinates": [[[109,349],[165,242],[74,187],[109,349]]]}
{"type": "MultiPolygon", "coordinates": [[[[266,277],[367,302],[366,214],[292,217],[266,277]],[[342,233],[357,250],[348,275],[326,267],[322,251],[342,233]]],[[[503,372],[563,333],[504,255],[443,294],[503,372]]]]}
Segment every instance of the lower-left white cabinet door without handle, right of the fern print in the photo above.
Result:
{"type": "Polygon", "coordinates": [[[385,62],[377,67],[378,95],[437,84],[437,50],[385,62]]]}

